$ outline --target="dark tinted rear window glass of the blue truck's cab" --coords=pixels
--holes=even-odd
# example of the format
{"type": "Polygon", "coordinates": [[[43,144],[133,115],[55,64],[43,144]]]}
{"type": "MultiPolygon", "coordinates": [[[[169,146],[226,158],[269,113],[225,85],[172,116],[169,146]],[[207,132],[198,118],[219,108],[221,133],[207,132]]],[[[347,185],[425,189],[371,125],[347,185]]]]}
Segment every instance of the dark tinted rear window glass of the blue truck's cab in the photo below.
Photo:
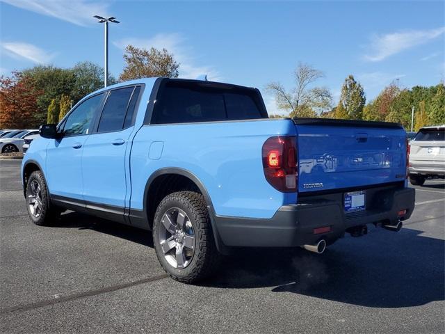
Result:
{"type": "Polygon", "coordinates": [[[168,81],[156,98],[152,123],[265,118],[256,90],[237,86],[168,81]]]}

